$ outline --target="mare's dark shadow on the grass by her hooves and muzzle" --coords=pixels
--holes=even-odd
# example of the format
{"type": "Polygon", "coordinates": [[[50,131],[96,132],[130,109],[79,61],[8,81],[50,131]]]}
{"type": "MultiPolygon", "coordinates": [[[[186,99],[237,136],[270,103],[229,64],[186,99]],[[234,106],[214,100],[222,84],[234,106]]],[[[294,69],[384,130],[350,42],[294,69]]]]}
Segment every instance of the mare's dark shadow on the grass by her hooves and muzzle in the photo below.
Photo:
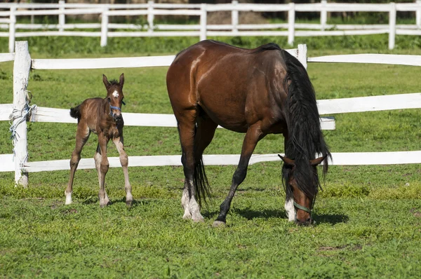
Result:
{"type": "MultiPolygon", "coordinates": [[[[241,215],[242,217],[251,220],[255,218],[262,218],[262,219],[269,219],[269,218],[287,218],[285,210],[250,210],[250,209],[239,209],[234,208],[232,209],[234,214],[241,215]]],[[[219,211],[214,212],[206,212],[203,214],[203,217],[207,218],[214,218],[218,216],[219,211]]],[[[316,221],[317,224],[338,224],[338,223],[347,223],[349,217],[347,215],[342,214],[313,214],[313,219],[316,221]]]]}

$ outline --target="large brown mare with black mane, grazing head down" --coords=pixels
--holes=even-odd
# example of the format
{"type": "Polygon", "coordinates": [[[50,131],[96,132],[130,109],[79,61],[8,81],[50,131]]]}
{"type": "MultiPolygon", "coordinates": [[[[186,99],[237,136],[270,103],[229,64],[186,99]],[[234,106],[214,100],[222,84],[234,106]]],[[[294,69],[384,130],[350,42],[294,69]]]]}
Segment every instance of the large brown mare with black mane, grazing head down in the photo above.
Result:
{"type": "Polygon", "coordinates": [[[226,222],[234,193],[246,178],[256,144],[267,134],[283,134],[282,177],[290,221],[311,224],[320,186],[316,165],[328,169],[312,83],[302,64],[274,43],[255,49],[201,41],[178,53],[167,73],[168,95],[182,147],[185,186],[183,218],[202,221],[201,200],[209,196],[202,154],[221,125],[245,132],[239,165],[214,226],[226,222]],[[316,154],[321,157],[316,158],[316,154]]]}

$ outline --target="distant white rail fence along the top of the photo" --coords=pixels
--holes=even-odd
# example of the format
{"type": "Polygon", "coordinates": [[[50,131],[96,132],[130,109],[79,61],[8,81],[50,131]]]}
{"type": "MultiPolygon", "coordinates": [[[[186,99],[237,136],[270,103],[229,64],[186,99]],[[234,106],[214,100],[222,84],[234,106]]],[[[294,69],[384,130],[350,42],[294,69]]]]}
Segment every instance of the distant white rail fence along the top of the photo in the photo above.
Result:
{"type": "Polygon", "coordinates": [[[13,52],[15,38],[29,36],[99,36],[100,45],[107,46],[108,37],[130,36],[288,36],[288,43],[293,45],[295,36],[347,36],[368,34],[389,34],[389,49],[395,45],[397,35],[421,35],[421,0],[415,3],[389,4],[240,4],[234,0],[231,4],[0,4],[0,36],[9,38],[9,51],[13,52]],[[230,11],[230,25],[208,25],[208,13],[230,11]],[[242,25],[239,24],[239,12],[278,12],[288,13],[288,23],[242,25]],[[415,13],[415,25],[396,25],[396,12],[415,13]],[[319,12],[320,24],[295,22],[296,12],[319,12]],[[389,13],[389,25],[328,25],[328,12],[383,12],[389,13]],[[99,23],[67,24],[66,15],[101,15],[99,23]],[[57,25],[19,24],[22,16],[57,15],[57,25]],[[155,15],[193,15],[200,18],[199,25],[154,25],[155,15]],[[145,16],[147,25],[115,24],[109,18],[116,16],[145,16]],[[17,32],[17,29],[38,29],[32,32],[17,32]],[[55,29],[54,31],[49,31],[55,29]],[[67,31],[68,29],[98,29],[98,31],[67,31]],[[141,31],[109,31],[112,29],[131,29],[141,31]],[[276,30],[274,30],[276,29],[276,30]],[[286,30],[279,30],[286,29],[286,30]],[[301,29],[301,30],[298,30],[301,29]],[[41,31],[39,31],[41,30],[41,31]]]}

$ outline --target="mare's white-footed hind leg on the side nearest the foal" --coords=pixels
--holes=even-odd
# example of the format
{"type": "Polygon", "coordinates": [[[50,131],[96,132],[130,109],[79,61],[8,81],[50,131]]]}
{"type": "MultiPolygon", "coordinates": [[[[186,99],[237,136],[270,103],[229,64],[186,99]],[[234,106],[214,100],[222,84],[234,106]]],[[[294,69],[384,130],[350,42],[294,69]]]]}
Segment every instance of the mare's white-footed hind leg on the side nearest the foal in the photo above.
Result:
{"type": "Polygon", "coordinates": [[[183,111],[177,115],[178,132],[180,133],[180,143],[182,149],[181,163],[185,173],[185,185],[182,192],[181,204],[185,210],[183,219],[193,219],[194,222],[202,222],[199,203],[197,203],[194,179],[194,126],[196,123],[196,109],[183,111]]]}

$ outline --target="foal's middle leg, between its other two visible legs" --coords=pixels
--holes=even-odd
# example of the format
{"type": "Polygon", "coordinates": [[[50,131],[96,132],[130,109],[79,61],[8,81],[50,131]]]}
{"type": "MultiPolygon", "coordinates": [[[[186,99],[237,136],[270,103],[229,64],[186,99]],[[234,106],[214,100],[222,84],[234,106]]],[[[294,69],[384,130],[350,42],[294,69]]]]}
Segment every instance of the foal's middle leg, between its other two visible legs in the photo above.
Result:
{"type": "Polygon", "coordinates": [[[109,198],[107,192],[105,191],[105,175],[107,175],[109,163],[107,158],[107,144],[109,139],[104,135],[98,134],[98,147],[95,152],[95,168],[98,172],[98,181],[100,182],[100,193],[98,194],[100,198],[100,207],[105,207],[109,205],[109,198]]]}

